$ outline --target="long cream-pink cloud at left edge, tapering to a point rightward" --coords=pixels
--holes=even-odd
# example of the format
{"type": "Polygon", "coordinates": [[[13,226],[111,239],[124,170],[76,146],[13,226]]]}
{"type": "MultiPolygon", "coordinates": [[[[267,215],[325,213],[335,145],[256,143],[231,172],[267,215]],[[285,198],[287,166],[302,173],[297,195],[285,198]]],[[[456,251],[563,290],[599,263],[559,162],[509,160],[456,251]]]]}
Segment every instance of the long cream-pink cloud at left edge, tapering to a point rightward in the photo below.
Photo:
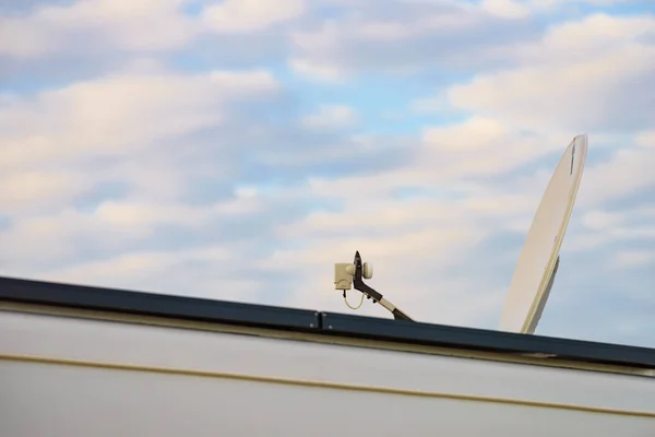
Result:
{"type": "Polygon", "coordinates": [[[275,79],[265,71],[216,71],[117,74],[46,91],[0,107],[0,139],[9,151],[0,164],[20,165],[34,157],[33,151],[40,158],[81,149],[115,154],[216,123],[226,101],[276,90],[275,79]]]}

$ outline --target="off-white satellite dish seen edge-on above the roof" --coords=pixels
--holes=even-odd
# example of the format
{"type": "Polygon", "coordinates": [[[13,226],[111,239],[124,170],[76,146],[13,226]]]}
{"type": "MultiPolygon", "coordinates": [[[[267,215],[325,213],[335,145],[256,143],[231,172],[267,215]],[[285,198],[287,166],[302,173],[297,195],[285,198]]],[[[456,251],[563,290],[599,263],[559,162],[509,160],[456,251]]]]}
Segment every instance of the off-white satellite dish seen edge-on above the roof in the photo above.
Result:
{"type": "Polygon", "coordinates": [[[548,182],[514,270],[500,319],[501,331],[532,334],[539,322],[559,267],[559,250],[586,152],[586,134],[575,137],[548,182]]]}

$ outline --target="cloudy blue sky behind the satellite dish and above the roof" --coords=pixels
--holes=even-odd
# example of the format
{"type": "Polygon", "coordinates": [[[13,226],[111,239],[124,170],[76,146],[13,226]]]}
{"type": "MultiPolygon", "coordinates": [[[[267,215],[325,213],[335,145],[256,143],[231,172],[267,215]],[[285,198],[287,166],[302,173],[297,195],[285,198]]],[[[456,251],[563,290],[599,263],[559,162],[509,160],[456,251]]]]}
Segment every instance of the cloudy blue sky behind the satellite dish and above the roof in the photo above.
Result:
{"type": "Polygon", "coordinates": [[[352,312],[359,250],[496,329],[587,133],[536,333],[655,347],[654,59],[651,0],[1,0],[0,275],[352,312]]]}

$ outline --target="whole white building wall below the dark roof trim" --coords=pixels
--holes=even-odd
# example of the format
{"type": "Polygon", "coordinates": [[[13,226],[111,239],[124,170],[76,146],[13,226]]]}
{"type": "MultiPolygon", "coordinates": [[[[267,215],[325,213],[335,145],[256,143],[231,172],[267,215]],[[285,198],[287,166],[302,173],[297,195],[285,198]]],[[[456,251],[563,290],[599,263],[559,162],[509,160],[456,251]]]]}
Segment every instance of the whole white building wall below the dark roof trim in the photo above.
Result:
{"type": "MultiPolygon", "coordinates": [[[[0,311],[0,353],[655,411],[655,379],[0,311]]],[[[655,421],[0,361],[0,436],[650,436],[655,421]],[[507,435],[507,434],[505,434],[507,435]]]]}

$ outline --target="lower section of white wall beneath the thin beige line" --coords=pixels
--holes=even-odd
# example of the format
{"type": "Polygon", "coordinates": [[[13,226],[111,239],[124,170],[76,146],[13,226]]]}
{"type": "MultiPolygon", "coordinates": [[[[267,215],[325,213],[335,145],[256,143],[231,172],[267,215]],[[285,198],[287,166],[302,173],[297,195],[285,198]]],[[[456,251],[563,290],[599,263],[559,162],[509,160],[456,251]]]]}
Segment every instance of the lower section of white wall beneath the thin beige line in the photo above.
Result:
{"type": "Polygon", "coordinates": [[[0,363],[8,437],[652,437],[647,418],[0,363]]]}

